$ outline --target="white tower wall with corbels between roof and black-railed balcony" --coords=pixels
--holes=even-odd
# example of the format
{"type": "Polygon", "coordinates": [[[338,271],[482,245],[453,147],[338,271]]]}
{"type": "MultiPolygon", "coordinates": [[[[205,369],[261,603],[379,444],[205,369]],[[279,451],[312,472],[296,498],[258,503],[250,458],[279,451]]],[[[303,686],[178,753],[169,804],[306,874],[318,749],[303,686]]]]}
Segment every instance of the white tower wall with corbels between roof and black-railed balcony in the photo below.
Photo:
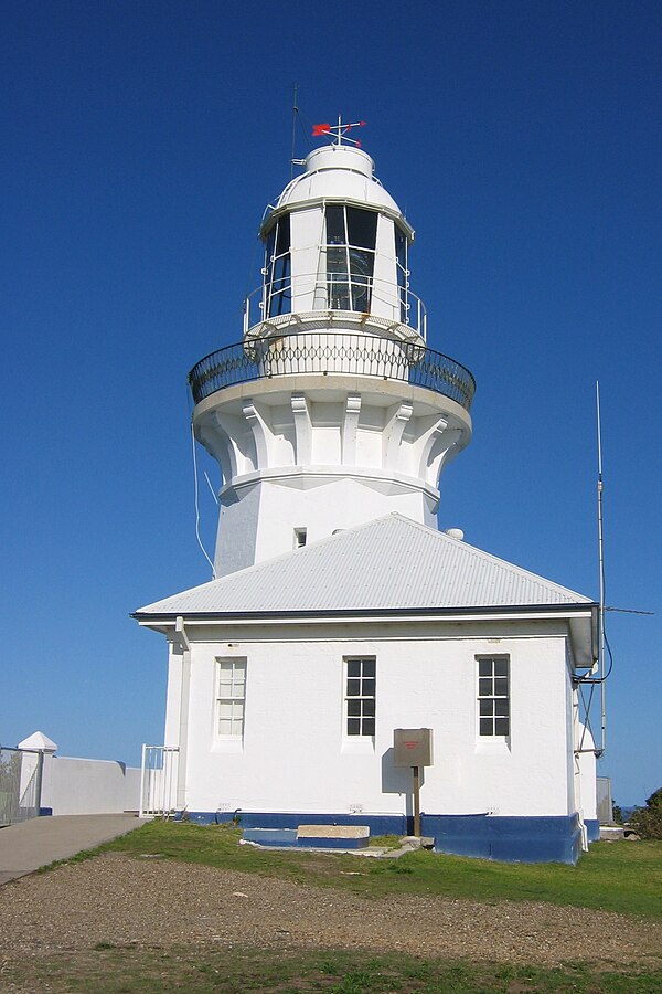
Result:
{"type": "Polygon", "coordinates": [[[222,391],[196,409],[196,432],[225,480],[217,577],[291,551],[296,528],[310,542],[392,511],[436,527],[438,480],[469,440],[468,414],[404,383],[312,381],[296,392],[249,384],[252,396],[222,391]]]}

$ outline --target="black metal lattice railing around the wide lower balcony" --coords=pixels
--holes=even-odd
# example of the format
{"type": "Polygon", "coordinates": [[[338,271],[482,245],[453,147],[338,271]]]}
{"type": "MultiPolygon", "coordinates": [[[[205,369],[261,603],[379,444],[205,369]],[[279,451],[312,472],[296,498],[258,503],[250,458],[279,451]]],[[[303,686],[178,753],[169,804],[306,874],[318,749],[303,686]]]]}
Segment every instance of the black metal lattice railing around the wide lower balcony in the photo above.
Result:
{"type": "Polygon", "coordinates": [[[423,345],[337,331],[306,331],[239,341],[212,352],[189,373],[193,401],[250,380],[344,373],[401,380],[441,393],[469,410],[476,381],[468,369],[423,345]]]}

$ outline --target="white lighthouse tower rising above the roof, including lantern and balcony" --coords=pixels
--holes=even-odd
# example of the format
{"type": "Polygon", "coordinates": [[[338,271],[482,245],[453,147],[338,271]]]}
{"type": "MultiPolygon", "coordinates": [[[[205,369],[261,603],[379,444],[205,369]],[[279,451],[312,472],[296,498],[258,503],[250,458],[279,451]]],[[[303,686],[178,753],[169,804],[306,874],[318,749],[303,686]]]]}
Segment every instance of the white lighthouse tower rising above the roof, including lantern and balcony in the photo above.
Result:
{"type": "Polygon", "coordinates": [[[389,511],[434,527],[471,436],[473,378],[426,348],[414,231],[346,127],[265,214],[243,340],[190,374],[224,480],[216,577],[389,511]]]}

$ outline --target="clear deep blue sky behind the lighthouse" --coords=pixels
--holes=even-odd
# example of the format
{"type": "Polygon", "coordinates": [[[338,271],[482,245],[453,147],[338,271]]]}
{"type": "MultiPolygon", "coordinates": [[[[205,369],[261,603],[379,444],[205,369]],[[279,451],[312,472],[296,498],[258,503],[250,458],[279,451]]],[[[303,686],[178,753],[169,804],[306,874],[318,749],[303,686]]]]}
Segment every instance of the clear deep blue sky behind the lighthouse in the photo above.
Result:
{"type": "Polygon", "coordinates": [[[590,596],[600,380],[607,602],[656,612],[609,616],[601,766],[621,804],[661,785],[661,42],[645,0],[6,6],[3,744],[162,741],[128,615],[209,579],[185,377],[241,337],[298,83],[306,124],[367,121],[429,343],[478,382],[441,527],[590,596]]]}

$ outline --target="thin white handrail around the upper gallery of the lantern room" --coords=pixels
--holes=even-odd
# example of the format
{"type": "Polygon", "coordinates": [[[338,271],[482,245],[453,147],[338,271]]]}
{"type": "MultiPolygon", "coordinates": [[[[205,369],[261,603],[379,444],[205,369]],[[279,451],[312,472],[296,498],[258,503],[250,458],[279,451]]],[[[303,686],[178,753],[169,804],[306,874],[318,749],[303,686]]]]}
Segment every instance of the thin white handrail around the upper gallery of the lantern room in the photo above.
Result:
{"type": "MultiPolygon", "coordinates": [[[[405,310],[405,319],[402,324],[413,328],[425,341],[427,335],[427,311],[425,304],[420,297],[408,287],[395,285],[388,279],[382,279],[375,276],[333,275],[342,275],[342,278],[339,278],[338,283],[354,287],[365,286],[370,290],[373,300],[386,304],[387,306],[393,306],[394,309],[399,310],[402,303],[405,310]],[[381,296],[383,292],[386,293],[385,297],[381,296]],[[394,292],[397,295],[397,303],[394,303],[393,300],[394,292]]],[[[328,302],[329,286],[332,285],[330,275],[322,276],[319,273],[302,273],[297,274],[295,277],[290,275],[287,277],[287,283],[279,283],[278,289],[273,292],[273,296],[288,298],[289,295],[289,299],[291,300],[295,281],[297,284],[297,293],[299,295],[305,294],[312,297],[312,306],[307,309],[323,313],[333,309],[329,307],[328,302]]],[[[278,281],[276,282],[278,283],[278,281]]],[[[269,320],[266,308],[267,284],[263,284],[252,290],[244,300],[244,335],[247,335],[248,329],[255,325],[260,325],[264,321],[269,320]]],[[[284,315],[290,313],[292,313],[290,309],[284,310],[284,315]]],[[[274,316],[271,315],[271,317],[274,316]]],[[[394,320],[398,320],[398,317],[395,315],[394,320]]]]}

